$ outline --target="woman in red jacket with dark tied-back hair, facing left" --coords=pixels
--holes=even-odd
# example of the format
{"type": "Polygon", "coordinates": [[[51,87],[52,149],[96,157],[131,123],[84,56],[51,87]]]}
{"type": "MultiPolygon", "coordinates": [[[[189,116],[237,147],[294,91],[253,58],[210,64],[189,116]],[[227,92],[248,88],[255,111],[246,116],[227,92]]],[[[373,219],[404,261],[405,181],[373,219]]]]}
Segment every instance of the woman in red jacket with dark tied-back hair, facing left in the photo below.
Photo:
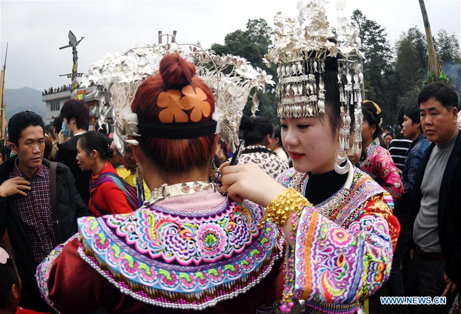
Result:
{"type": "Polygon", "coordinates": [[[92,171],[88,207],[95,217],[131,213],[137,208],[136,191],[117,175],[109,162],[112,156],[103,134],[90,131],[78,139],[78,166],[92,171]]]}

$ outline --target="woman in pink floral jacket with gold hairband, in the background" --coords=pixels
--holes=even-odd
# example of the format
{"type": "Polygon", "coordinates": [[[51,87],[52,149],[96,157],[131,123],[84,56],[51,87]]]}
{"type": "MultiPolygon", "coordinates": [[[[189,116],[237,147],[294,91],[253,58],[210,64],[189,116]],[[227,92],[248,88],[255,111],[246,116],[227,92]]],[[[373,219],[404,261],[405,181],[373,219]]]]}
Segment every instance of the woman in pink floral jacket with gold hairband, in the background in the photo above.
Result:
{"type": "Polygon", "coordinates": [[[397,201],[404,193],[404,185],[389,151],[379,145],[381,109],[373,101],[365,100],[362,104],[362,113],[364,115],[362,137],[367,158],[360,162],[360,166],[364,171],[375,175],[376,182],[397,201]]]}

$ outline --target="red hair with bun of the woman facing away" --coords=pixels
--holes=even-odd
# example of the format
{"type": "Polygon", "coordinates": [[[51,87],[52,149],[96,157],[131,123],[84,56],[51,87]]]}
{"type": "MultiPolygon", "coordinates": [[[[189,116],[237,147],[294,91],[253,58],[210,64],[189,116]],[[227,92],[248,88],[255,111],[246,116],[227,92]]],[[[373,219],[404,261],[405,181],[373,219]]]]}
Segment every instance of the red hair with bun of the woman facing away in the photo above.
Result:
{"type": "MultiPolygon", "coordinates": [[[[211,106],[208,117],[199,122],[209,121],[214,112],[214,97],[205,82],[195,75],[195,67],[178,54],[169,54],[160,61],[160,71],[146,79],[137,89],[131,110],[137,114],[139,123],[161,123],[158,114],[166,108],[157,106],[158,95],[170,89],[181,90],[190,85],[202,89],[211,106]]],[[[185,110],[189,116],[191,110],[185,110]]],[[[137,138],[139,147],[154,166],[162,173],[177,174],[192,168],[210,165],[214,134],[192,139],[137,138]]]]}

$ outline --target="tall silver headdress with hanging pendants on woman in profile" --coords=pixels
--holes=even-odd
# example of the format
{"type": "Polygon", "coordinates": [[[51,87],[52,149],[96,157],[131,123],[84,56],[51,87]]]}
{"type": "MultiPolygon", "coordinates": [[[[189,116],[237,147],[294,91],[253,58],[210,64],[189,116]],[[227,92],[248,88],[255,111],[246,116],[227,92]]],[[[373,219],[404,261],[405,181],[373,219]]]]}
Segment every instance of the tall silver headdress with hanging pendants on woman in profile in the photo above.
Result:
{"type": "Polygon", "coordinates": [[[338,59],[339,101],[342,108],[340,149],[349,149],[349,106],[354,106],[355,129],[353,150],[358,152],[362,141],[362,95],[360,82],[363,74],[359,64],[360,38],[343,15],[345,4],[338,1],[337,27],[330,30],[325,1],[298,3],[297,18],[278,12],[274,17],[274,48],[269,49],[264,61],[278,65],[277,113],[280,117],[299,118],[325,113],[325,83],[323,81],[327,57],[338,59]],[[333,39],[334,38],[334,39],[333,39]]]}

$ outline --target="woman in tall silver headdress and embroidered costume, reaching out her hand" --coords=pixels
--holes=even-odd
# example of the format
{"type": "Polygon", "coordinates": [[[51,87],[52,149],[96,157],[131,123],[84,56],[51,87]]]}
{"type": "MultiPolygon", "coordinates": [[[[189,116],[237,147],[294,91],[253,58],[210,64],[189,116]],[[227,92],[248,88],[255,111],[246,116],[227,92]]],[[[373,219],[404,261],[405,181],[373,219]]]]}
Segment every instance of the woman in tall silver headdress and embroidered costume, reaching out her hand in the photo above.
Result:
{"type": "Polygon", "coordinates": [[[299,29],[291,29],[294,19],[277,14],[276,26],[287,23],[290,32],[276,33],[278,48],[266,55],[278,66],[277,112],[294,168],[277,183],[254,164],[224,164],[222,180],[230,197],[266,206],[267,216],[283,227],[289,249],[280,310],[288,313],[294,299],[302,299],[307,313],[356,313],[389,276],[399,225],[392,197],[344,153],[349,105],[358,125],[354,152],[361,140],[359,65],[339,61],[341,55],[326,57],[344,46],[329,39],[328,23],[316,24],[326,18],[321,5],[310,2],[302,9],[306,21],[299,29]],[[311,32],[325,34],[315,39],[318,51],[306,52],[304,42],[284,44],[296,40],[292,34],[308,38],[311,32]],[[345,73],[339,83],[338,66],[345,73]]]}

